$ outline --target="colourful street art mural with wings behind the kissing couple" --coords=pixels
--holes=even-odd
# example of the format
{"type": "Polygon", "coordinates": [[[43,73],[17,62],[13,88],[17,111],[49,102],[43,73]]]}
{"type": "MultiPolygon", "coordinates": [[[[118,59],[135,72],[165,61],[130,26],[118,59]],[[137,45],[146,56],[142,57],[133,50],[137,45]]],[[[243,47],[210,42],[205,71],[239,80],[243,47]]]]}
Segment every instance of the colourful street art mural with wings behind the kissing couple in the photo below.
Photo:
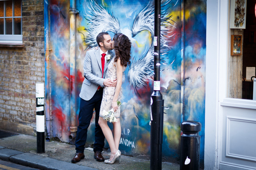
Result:
{"type": "MultiPolygon", "coordinates": [[[[69,141],[70,94],[75,89],[76,117],[85,53],[96,36],[121,32],[132,42],[131,64],[122,85],[121,140],[128,155],[150,155],[150,97],[154,76],[154,1],[76,0],[76,62],[69,58],[69,2],[50,1],[50,102],[53,136],[69,141]],[[70,75],[70,69],[76,75],[70,75]],[[76,88],[73,87],[75,82],[76,88]]],[[[161,1],[161,94],[164,99],[163,153],[180,157],[180,124],[202,123],[200,157],[204,157],[206,1],[161,1]]],[[[74,92],[74,91],[73,91],[74,92]]],[[[78,121],[77,121],[78,122],[78,121]]],[[[109,124],[111,126],[111,124],[109,124]]],[[[94,118],[87,146],[94,142],[94,118]]],[[[108,144],[106,143],[106,146],[108,144]]]]}

